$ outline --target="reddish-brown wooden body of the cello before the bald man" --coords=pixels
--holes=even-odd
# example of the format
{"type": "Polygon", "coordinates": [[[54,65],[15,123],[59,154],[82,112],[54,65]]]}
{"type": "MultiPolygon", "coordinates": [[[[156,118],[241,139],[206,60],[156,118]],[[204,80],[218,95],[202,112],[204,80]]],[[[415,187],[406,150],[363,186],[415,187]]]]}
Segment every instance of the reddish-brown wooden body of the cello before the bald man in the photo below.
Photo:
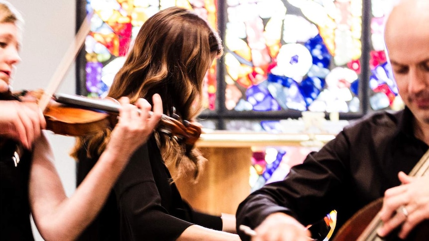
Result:
{"type": "MultiPolygon", "coordinates": [[[[374,217],[383,206],[383,198],[379,198],[353,215],[336,233],[332,241],[356,241],[362,239],[361,235],[369,226],[374,217]]],[[[375,231],[374,231],[375,232],[375,231]]],[[[378,236],[366,237],[365,241],[402,241],[398,238],[398,230],[393,231],[388,237],[380,238],[378,236]]],[[[429,220],[418,225],[407,237],[406,241],[428,241],[429,240],[429,220]]]]}

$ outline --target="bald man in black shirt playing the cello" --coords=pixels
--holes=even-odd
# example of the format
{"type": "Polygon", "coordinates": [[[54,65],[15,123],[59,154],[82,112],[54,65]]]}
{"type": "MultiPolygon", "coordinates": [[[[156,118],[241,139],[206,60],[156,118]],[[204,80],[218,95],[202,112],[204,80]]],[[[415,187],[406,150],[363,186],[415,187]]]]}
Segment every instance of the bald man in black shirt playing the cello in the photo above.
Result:
{"type": "Polygon", "coordinates": [[[256,234],[239,231],[242,240],[308,241],[306,226],[331,210],[337,211],[338,231],[379,198],[379,236],[412,239],[412,231],[427,223],[429,176],[408,173],[429,145],[428,21],[428,0],[401,0],[386,23],[388,56],[405,109],[353,122],[284,180],[251,193],[238,207],[237,227],[256,234]]]}

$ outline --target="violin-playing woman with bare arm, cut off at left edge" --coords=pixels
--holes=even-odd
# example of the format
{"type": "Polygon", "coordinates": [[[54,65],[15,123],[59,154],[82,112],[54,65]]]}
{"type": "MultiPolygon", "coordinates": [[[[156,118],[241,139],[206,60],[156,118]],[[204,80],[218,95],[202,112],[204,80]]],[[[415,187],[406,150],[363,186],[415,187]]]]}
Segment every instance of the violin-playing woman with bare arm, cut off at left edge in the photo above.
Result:
{"type": "Polygon", "coordinates": [[[159,95],[120,99],[119,120],[97,165],[67,197],[44,135],[46,122],[34,102],[14,100],[9,85],[19,63],[21,15],[0,0],[0,240],[31,241],[30,213],[46,241],[75,240],[99,213],[135,149],[146,142],[162,114],[159,95]],[[140,114],[138,113],[140,112],[140,114]],[[138,138],[136,138],[138,137],[138,138]],[[15,155],[16,146],[23,153],[15,155]]]}

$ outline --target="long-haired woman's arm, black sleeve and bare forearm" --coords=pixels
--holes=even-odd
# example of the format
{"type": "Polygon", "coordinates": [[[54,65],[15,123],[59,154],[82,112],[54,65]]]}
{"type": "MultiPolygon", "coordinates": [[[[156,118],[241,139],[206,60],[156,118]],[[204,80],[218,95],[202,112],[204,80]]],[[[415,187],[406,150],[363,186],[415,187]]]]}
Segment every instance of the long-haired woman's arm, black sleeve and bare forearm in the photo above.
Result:
{"type": "Polygon", "coordinates": [[[203,228],[197,220],[202,216],[189,213],[169,178],[153,139],[133,154],[114,186],[122,239],[238,240],[237,235],[203,228]]]}

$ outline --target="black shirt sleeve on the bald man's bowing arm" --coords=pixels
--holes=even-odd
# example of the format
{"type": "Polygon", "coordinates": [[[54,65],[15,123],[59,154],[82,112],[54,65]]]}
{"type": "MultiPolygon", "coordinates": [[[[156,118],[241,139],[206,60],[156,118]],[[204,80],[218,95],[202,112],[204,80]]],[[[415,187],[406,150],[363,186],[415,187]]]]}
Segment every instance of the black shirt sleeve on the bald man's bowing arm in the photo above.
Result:
{"type": "MultiPolygon", "coordinates": [[[[237,227],[254,229],[276,212],[294,216],[304,225],[321,219],[343,194],[340,188],[347,168],[343,161],[348,160],[348,150],[348,140],[341,132],[319,152],[310,153],[302,164],[292,167],[284,180],[251,193],[238,206],[237,227]]],[[[249,240],[240,230],[237,232],[242,240],[249,240]]]]}

